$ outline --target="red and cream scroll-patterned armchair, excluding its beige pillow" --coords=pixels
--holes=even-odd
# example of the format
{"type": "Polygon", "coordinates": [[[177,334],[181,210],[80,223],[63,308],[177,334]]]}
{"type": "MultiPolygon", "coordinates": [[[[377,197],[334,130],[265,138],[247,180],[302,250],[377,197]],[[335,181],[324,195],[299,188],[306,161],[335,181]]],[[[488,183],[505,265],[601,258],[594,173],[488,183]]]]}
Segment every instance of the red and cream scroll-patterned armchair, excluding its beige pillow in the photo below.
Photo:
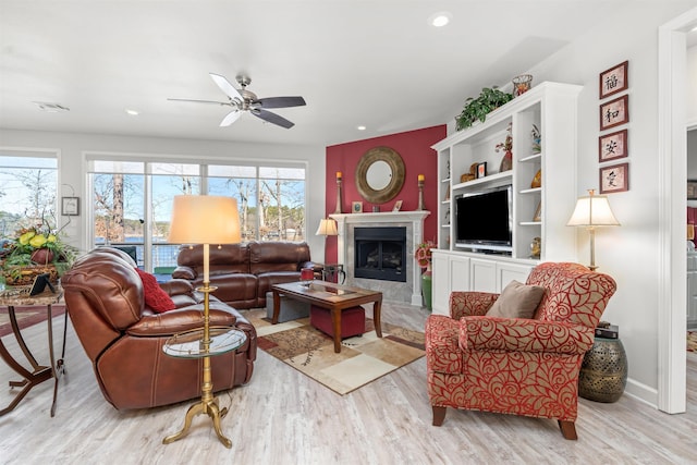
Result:
{"type": "Polygon", "coordinates": [[[485,292],[453,292],[450,317],[428,318],[433,425],[454,407],[554,418],[564,438],[576,439],[578,372],[615,282],[583,265],[546,262],[533,269],[525,286],[515,284],[543,287],[537,287],[538,298],[543,294],[531,318],[487,316],[499,294],[485,292]]]}

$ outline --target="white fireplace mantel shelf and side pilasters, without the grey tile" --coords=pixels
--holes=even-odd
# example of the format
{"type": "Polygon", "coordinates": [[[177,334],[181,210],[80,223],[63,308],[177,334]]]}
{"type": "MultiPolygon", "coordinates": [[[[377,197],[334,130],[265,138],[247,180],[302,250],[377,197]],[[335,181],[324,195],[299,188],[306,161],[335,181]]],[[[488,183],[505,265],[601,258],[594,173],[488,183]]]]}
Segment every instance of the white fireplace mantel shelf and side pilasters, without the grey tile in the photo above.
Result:
{"type": "MultiPolygon", "coordinates": [[[[407,244],[414,247],[415,244],[423,242],[424,237],[424,220],[430,215],[430,211],[389,211],[376,213],[333,213],[330,218],[337,220],[337,229],[339,231],[337,253],[338,261],[346,266],[346,272],[353,276],[353,256],[348,253],[353,250],[353,228],[360,227],[378,227],[386,224],[402,223],[407,227],[407,244]]],[[[407,257],[409,256],[407,250],[407,257]]],[[[412,305],[421,305],[421,270],[415,266],[414,260],[407,260],[411,271],[411,303],[412,305]]]]}

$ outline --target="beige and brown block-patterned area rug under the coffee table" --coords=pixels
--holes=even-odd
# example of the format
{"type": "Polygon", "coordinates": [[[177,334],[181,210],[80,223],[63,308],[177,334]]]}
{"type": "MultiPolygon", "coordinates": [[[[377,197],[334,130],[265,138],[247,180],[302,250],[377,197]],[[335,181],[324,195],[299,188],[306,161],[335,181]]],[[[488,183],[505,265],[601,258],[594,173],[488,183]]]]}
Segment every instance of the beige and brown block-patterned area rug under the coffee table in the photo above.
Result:
{"type": "Polygon", "coordinates": [[[309,318],[271,325],[266,309],[246,315],[257,330],[258,347],[326,386],[347,394],[396,370],[425,353],[424,333],[382,322],[382,338],[366,318],[366,332],[342,341],[334,353],[333,340],[309,325],[309,318]]]}

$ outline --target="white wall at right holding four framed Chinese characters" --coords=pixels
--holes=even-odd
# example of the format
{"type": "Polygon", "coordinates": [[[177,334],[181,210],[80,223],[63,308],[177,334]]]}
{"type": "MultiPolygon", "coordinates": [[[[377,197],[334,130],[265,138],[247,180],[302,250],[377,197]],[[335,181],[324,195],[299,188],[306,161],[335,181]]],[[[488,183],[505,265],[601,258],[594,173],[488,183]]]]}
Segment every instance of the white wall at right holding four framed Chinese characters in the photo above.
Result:
{"type": "MultiPolygon", "coordinates": [[[[658,389],[659,189],[658,27],[695,2],[637,2],[622,19],[603,19],[595,30],[531,71],[539,81],[584,85],[579,100],[577,189],[598,187],[598,74],[629,61],[629,191],[610,195],[622,223],[596,236],[596,262],[617,282],[603,319],[620,327],[629,360],[627,392],[651,404],[658,389]]],[[[692,81],[694,85],[696,81],[692,81]]],[[[570,215],[573,206],[570,206],[570,215]]],[[[588,257],[588,236],[578,233],[579,257],[588,257]]]]}

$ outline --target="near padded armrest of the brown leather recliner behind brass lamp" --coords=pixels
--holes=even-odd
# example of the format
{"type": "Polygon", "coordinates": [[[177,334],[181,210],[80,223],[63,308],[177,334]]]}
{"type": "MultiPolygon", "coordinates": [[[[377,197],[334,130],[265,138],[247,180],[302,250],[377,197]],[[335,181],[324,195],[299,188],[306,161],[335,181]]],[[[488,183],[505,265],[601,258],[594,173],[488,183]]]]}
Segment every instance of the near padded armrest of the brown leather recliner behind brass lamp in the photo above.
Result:
{"type": "MultiPolygon", "coordinates": [[[[137,338],[174,335],[180,332],[203,328],[203,305],[169,310],[163,314],[145,315],[126,329],[126,333],[137,338]]],[[[233,327],[237,318],[230,311],[210,308],[210,326],[233,327]]]]}

